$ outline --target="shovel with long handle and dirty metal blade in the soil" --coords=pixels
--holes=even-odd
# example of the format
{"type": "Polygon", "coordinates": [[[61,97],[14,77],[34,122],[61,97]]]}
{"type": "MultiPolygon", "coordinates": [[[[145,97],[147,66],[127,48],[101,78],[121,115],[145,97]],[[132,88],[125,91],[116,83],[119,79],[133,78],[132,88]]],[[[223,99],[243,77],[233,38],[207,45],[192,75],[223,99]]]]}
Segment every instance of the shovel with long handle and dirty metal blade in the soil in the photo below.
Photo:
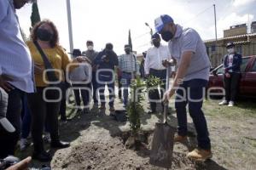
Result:
{"type": "MultiPolygon", "coordinates": [[[[166,69],[166,90],[169,88],[170,66],[166,69]]],[[[165,103],[162,123],[155,123],[154,137],[152,141],[150,164],[157,167],[172,167],[173,139],[176,129],[167,122],[168,103],[165,103]]]]}

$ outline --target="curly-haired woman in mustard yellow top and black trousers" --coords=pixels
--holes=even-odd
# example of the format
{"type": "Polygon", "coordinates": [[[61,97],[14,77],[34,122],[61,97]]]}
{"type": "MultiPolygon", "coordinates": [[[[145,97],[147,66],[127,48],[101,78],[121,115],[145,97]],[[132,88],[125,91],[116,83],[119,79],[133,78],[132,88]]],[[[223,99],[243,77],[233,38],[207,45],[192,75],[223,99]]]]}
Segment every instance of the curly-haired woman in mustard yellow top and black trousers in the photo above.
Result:
{"type": "Polygon", "coordinates": [[[31,51],[35,64],[35,84],[37,88],[36,93],[28,94],[28,103],[32,111],[32,140],[34,144],[32,157],[38,161],[50,161],[51,156],[44,150],[42,139],[45,121],[49,123],[51,147],[66,148],[69,143],[59,139],[58,114],[61,101],[48,100],[54,98],[53,96],[56,97],[56,94],[59,94],[60,91],[46,90],[49,87],[48,74],[44,74],[47,65],[44,64],[44,59],[35,43],[38,43],[38,46],[43,49],[51,67],[56,70],[55,77],[60,81],[64,81],[65,75],[63,71],[66,71],[68,64],[71,62],[83,62],[86,59],[79,57],[70,60],[68,58],[64,49],[59,45],[58,31],[50,20],[43,20],[33,27],[31,40],[32,42],[27,42],[27,46],[31,51]]]}

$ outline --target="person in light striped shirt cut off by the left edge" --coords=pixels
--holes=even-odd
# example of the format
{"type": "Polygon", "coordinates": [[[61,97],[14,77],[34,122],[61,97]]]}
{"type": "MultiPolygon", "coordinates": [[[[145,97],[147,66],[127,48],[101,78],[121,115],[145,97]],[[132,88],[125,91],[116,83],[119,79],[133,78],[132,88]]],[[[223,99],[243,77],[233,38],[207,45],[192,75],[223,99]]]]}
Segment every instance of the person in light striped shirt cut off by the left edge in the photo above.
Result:
{"type": "Polygon", "coordinates": [[[15,127],[14,133],[0,129],[0,158],[15,154],[20,137],[21,99],[24,93],[34,92],[33,65],[26,47],[15,8],[32,0],[0,1],[0,88],[9,95],[6,118],[15,127]]]}

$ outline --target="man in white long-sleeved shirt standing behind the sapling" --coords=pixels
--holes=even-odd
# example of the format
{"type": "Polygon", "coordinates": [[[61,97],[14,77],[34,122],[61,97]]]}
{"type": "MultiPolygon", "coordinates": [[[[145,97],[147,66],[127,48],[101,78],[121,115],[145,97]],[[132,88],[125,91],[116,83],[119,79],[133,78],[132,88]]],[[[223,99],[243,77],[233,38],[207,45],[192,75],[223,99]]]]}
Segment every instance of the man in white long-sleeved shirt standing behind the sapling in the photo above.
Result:
{"type": "MultiPolygon", "coordinates": [[[[166,59],[172,59],[171,54],[169,52],[169,48],[160,43],[159,34],[154,34],[152,36],[152,43],[154,47],[148,49],[147,56],[145,59],[145,75],[146,77],[148,77],[149,75],[159,77],[164,83],[163,86],[161,86],[160,94],[158,89],[150,90],[149,100],[151,111],[149,111],[148,114],[153,114],[156,112],[155,100],[160,100],[164,94],[163,89],[165,89],[166,82],[166,67],[162,64],[162,62],[166,59]]],[[[163,103],[161,103],[161,105],[163,107],[163,103]]]]}

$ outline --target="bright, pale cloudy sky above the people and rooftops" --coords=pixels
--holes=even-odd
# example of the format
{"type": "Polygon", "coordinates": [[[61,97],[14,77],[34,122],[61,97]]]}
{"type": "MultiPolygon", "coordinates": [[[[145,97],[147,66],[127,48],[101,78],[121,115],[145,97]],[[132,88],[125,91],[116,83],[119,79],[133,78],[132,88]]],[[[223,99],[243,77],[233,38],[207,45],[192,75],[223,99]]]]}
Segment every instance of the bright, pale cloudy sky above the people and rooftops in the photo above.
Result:
{"type": "MultiPolygon", "coordinates": [[[[66,0],[38,0],[41,19],[55,23],[60,33],[61,46],[69,52],[66,0]]],[[[218,38],[230,26],[256,21],[256,0],[70,0],[73,22],[73,47],[86,50],[92,40],[97,51],[107,42],[113,50],[123,54],[131,30],[133,50],[142,53],[150,48],[149,27],[154,30],[154,19],[169,14],[174,22],[191,27],[203,40],[215,38],[213,4],[216,5],[218,38]]],[[[20,26],[29,35],[32,5],[17,10],[20,26]]],[[[247,30],[250,32],[250,29],[247,30]]],[[[163,41],[162,41],[163,42],[163,41]]],[[[163,42],[163,44],[166,44],[163,42]]]]}

